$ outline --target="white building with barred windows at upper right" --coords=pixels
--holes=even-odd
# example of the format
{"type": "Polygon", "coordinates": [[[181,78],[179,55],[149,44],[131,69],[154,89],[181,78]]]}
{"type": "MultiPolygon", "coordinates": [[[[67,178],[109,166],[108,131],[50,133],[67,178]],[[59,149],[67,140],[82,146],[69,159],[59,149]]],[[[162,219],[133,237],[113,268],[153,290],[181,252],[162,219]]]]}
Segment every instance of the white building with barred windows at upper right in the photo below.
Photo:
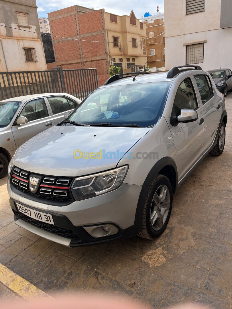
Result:
{"type": "Polygon", "coordinates": [[[232,68],[232,0],[164,0],[165,68],[232,68]]]}

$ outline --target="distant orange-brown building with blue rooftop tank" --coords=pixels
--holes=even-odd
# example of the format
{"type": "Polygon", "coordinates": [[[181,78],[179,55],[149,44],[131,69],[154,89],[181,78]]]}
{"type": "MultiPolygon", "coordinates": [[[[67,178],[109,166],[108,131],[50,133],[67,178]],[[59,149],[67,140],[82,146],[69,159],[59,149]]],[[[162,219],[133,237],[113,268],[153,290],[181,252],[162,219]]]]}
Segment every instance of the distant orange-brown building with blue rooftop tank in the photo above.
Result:
{"type": "Polygon", "coordinates": [[[148,37],[146,40],[147,65],[150,68],[162,70],[165,68],[164,14],[142,17],[141,20],[144,21],[148,37]]]}

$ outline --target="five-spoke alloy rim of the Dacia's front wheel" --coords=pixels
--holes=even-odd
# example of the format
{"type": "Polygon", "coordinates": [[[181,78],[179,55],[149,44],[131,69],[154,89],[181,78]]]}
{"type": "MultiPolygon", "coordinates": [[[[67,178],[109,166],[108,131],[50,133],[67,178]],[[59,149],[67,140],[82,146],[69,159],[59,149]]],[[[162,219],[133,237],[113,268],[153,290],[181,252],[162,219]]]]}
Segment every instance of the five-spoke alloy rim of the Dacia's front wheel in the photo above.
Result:
{"type": "Polygon", "coordinates": [[[168,216],[170,209],[170,192],[166,185],[159,186],[153,196],[150,222],[153,230],[159,231],[168,216]]]}

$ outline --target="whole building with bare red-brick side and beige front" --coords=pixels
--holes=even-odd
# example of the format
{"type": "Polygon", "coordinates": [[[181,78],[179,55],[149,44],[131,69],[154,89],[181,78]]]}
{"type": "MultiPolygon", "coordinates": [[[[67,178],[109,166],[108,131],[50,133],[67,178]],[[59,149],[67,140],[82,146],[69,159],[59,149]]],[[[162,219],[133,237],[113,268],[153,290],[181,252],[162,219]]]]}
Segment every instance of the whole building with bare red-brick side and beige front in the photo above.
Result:
{"type": "Polygon", "coordinates": [[[48,17],[56,60],[51,67],[97,68],[102,85],[109,78],[110,67],[119,66],[127,73],[139,70],[147,61],[145,24],[133,11],[119,16],[74,5],[50,12],[48,17]]]}

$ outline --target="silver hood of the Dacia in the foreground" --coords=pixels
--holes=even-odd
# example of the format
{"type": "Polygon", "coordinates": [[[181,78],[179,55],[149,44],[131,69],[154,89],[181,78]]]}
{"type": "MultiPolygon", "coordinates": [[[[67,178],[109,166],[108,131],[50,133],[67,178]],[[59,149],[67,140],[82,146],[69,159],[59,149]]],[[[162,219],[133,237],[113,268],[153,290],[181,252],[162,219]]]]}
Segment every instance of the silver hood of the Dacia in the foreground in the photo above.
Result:
{"type": "MultiPolygon", "coordinates": [[[[15,152],[14,165],[43,175],[82,176],[117,166],[151,128],[54,126],[31,138],[15,152]],[[74,151],[101,153],[101,159],[74,158],[74,151]],[[110,156],[108,152],[114,152],[110,156]],[[122,156],[122,154],[121,154],[122,156]]],[[[79,157],[79,152],[76,153],[79,157]]],[[[97,155],[100,157],[100,154],[97,155]]]]}

